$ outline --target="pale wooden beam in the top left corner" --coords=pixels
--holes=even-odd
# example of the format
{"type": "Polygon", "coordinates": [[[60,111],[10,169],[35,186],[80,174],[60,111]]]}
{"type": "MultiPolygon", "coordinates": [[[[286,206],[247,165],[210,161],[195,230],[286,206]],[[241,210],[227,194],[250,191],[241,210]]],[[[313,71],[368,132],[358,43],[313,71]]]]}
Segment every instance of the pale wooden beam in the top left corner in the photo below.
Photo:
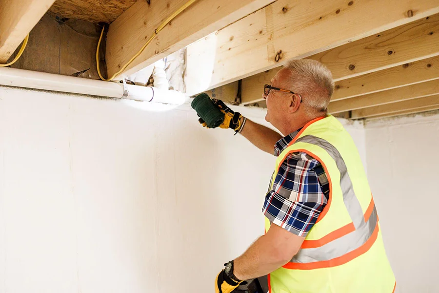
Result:
{"type": "Polygon", "coordinates": [[[55,0],[0,0],[0,63],[6,63],[55,0]]]}

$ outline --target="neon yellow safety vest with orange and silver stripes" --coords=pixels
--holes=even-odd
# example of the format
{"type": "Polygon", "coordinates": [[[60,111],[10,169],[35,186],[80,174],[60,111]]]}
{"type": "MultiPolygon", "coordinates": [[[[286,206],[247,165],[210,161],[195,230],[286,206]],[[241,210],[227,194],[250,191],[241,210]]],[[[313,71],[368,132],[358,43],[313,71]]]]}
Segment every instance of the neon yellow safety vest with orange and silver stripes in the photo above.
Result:
{"type": "Polygon", "coordinates": [[[331,115],[309,122],[280,153],[270,189],[283,160],[294,152],[319,160],[329,181],[329,200],[299,252],[268,275],[270,293],[392,293],[395,276],[351,136],[331,115]]]}

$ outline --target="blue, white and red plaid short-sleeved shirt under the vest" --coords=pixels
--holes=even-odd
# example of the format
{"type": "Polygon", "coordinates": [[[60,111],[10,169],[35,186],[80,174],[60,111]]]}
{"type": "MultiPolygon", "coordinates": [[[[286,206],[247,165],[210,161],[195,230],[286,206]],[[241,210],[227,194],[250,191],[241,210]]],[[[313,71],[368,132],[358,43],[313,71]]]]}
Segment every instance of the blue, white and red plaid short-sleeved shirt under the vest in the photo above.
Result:
{"type": "MultiPolygon", "coordinates": [[[[274,155],[279,156],[299,131],[280,139],[274,155]]],[[[329,183],[320,162],[304,152],[291,153],[280,165],[262,211],[271,223],[304,237],[328,198],[329,183]]]]}

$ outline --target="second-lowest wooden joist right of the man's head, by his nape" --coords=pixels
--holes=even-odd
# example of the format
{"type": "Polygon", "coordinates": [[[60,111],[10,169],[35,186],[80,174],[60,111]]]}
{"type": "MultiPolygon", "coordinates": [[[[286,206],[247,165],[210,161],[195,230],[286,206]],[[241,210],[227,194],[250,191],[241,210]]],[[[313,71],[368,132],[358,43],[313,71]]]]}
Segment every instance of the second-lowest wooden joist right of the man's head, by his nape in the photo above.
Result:
{"type": "Polygon", "coordinates": [[[436,94],[439,94],[439,79],[331,102],[328,110],[329,113],[339,113],[436,94]]]}

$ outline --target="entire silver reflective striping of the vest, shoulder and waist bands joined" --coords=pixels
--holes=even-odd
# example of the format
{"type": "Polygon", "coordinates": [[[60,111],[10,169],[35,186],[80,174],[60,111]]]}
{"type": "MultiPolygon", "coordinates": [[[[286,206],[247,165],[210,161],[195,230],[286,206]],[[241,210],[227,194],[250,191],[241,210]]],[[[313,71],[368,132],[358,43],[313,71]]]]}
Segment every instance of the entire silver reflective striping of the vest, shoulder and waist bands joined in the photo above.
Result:
{"type": "Polygon", "coordinates": [[[314,135],[300,137],[296,143],[297,142],[320,146],[336,162],[337,168],[340,172],[340,187],[343,194],[343,202],[354,224],[355,231],[321,247],[301,249],[291,261],[295,263],[310,263],[330,260],[361,247],[370,238],[377,225],[378,217],[375,206],[368,221],[365,222],[363,210],[361,209],[359,200],[355,195],[354,186],[347,172],[346,164],[335,146],[314,135]]]}

